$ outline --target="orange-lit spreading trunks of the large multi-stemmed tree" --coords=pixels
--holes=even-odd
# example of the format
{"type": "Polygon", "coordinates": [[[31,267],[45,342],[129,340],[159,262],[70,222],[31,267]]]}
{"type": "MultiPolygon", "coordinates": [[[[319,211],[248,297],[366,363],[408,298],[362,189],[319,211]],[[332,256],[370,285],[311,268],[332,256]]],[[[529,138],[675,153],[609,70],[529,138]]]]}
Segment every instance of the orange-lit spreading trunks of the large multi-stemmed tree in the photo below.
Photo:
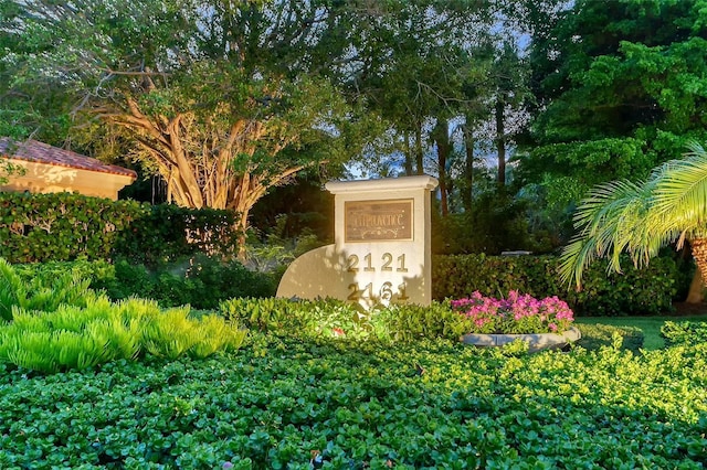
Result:
{"type": "MultiPolygon", "coordinates": [[[[225,209],[236,213],[239,256],[242,257],[247,216],[253,205],[268,188],[286,182],[306,165],[272,164],[266,171],[258,172],[254,171],[256,163],[253,162],[234,168],[236,156],[252,157],[258,141],[272,137],[266,126],[257,120],[238,119],[226,132],[215,127],[204,131],[194,126],[189,113],[170,119],[144,114],[134,99],[128,99],[127,105],[126,113],[104,118],[135,131],[149,160],[167,181],[169,202],[184,207],[225,209]]],[[[291,142],[288,139],[274,140],[273,156],[291,142]]]]}

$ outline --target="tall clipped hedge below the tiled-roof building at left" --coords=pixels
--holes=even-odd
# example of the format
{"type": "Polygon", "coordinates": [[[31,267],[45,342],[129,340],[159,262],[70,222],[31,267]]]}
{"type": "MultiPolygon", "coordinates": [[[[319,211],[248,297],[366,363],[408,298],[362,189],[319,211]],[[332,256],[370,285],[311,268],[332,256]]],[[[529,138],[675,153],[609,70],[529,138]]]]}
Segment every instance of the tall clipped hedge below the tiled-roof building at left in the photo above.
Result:
{"type": "Polygon", "coordinates": [[[0,257],[12,264],[123,257],[152,265],[233,253],[236,215],[80,194],[0,192],[0,257]]]}

